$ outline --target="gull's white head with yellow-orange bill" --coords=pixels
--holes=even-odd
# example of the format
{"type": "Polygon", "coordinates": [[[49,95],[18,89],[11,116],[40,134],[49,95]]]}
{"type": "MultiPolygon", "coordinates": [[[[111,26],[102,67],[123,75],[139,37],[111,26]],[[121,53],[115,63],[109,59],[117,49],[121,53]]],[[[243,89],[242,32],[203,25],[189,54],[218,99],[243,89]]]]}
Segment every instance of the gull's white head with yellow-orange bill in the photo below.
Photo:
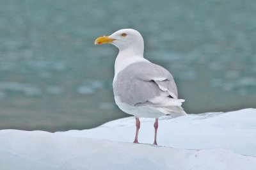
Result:
{"type": "Polygon", "coordinates": [[[129,50],[143,56],[144,41],[141,34],[134,29],[120,29],[110,36],[100,36],[95,40],[95,44],[103,43],[112,43],[120,52],[129,50]]]}

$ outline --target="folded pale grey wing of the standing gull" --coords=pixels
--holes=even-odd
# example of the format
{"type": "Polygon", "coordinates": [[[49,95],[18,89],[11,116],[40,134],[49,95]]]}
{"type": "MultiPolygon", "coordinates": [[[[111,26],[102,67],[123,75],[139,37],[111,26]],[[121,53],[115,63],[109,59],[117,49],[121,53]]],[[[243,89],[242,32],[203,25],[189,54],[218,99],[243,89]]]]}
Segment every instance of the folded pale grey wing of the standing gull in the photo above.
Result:
{"type": "Polygon", "coordinates": [[[171,73],[147,62],[134,63],[118,73],[113,89],[114,95],[129,105],[144,104],[160,96],[178,98],[171,73]]]}

